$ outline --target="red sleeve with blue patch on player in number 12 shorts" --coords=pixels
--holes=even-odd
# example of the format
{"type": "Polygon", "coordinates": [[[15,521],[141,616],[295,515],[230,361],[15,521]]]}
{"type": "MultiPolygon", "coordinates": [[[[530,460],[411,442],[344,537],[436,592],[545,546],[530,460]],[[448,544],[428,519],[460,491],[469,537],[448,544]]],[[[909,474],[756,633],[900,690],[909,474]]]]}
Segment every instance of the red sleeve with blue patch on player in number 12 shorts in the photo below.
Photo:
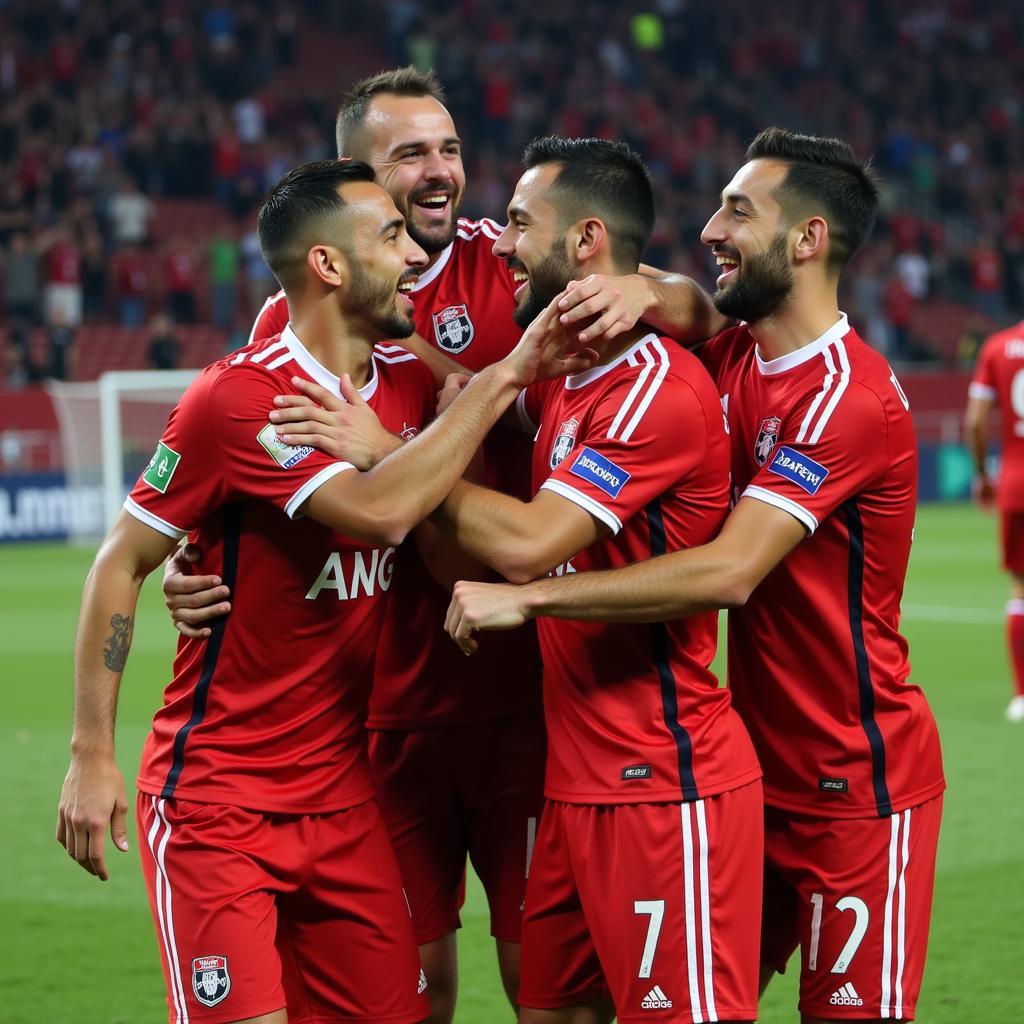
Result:
{"type": "Polygon", "coordinates": [[[742,497],[774,505],[813,534],[827,515],[889,466],[889,424],[882,400],[850,383],[829,409],[812,404],[792,417],[771,459],[742,497]]]}

